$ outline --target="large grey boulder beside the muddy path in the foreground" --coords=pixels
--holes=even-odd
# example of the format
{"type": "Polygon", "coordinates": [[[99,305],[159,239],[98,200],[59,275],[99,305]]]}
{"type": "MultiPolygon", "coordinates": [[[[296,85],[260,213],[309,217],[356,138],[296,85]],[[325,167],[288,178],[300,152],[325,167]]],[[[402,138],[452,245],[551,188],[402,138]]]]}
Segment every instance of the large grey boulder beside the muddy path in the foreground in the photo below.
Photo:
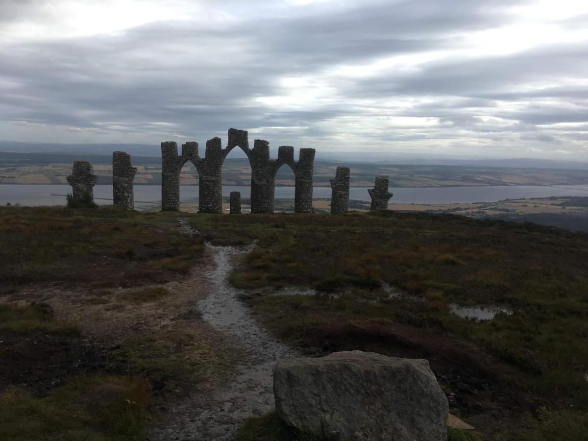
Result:
{"type": "Polygon", "coordinates": [[[280,360],[273,394],[283,422],[323,439],[447,439],[447,398],[427,360],[360,350],[280,360]]]}

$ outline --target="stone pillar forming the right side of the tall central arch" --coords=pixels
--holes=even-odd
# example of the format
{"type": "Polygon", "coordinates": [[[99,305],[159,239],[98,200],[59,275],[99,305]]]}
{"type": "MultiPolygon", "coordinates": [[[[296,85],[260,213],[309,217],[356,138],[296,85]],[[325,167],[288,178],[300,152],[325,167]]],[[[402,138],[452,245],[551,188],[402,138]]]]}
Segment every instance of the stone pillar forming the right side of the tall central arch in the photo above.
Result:
{"type": "Polygon", "coordinates": [[[251,212],[273,213],[276,170],[269,159],[269,142],[256,139],[249,155],[251,164],[251,212]]]}

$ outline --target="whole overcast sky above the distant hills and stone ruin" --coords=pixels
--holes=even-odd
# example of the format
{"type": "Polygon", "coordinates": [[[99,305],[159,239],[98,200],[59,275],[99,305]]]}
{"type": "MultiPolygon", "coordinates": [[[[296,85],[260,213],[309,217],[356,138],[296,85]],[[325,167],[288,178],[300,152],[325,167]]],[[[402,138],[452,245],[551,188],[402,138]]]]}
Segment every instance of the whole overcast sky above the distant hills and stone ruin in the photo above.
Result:
{"type": "Polygon", "coordinates": [[[588,1],[0,0],[0,139],[588,160],[588,1]]]}

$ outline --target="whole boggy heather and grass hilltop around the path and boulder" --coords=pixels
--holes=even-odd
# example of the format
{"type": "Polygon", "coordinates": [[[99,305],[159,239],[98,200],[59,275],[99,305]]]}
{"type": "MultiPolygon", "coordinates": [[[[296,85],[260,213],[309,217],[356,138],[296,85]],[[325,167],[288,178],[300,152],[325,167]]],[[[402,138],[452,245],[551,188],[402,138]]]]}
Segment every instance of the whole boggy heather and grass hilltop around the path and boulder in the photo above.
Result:
{"type": "MultiPolygon", "coordinates": [[[[226,382],[239,354],[190,312],[203,289],[185,289],[210,265],[206,241],[256,241],[230,282],[306,354],[426,358],[484,440],[588,439],[586,233],[430,213],[24,207],[0,208],[0,439],[144,439],[162,407],[226,382]],[[503,313],[452,313],[479,305],[503,313]]],[[[240,439],[296,437],[270,415],[240,439]]]]}

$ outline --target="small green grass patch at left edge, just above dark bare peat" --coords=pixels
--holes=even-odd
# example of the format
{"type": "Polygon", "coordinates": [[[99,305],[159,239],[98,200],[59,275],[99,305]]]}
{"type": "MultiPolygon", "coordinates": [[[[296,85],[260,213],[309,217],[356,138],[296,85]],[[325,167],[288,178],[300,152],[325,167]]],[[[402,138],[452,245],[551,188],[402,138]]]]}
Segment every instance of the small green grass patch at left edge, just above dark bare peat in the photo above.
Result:
{"type": "Polygon", "coordinates": [[[51,308],[42,303],[31,303],[28,306],[0,304],[0,329],[21,333],[37,330],[56,334],[79,333],[76,326],[56,321],[51,308]]]}

